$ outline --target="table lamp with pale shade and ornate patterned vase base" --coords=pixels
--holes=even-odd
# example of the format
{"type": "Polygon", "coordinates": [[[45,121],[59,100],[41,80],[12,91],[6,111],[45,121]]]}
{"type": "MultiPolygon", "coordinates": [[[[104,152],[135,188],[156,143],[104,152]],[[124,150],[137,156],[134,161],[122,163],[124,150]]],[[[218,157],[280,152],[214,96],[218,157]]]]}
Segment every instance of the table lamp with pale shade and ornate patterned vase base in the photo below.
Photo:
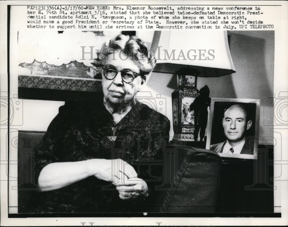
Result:
{"type": "Polygon", "coordinates": [[[236,72],[227,32],[185,31],[184,35],[177,31],[155,31],[151,49],[156,50],[157,59],[153,72],[178,75],[178,88],[172,93],[173,139],[197,140],[194,110],[190,110],[199,95],[197,78],[236,72]]]}

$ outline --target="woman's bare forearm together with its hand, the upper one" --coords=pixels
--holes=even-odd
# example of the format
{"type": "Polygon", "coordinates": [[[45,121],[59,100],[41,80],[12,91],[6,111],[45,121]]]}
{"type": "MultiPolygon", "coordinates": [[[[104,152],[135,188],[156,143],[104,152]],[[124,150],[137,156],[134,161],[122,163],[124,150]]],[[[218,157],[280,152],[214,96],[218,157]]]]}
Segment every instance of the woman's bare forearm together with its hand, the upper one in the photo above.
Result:
{"type": "Polygon", "coordinates": [[[121,185],[128,178],[137,177],[137,172],[131,165],[121,159],[55,162],[41,170],[38,184],[45,192],[66,187],[93,175],[100,180],[111,181],[114,185],[121,185]]]}

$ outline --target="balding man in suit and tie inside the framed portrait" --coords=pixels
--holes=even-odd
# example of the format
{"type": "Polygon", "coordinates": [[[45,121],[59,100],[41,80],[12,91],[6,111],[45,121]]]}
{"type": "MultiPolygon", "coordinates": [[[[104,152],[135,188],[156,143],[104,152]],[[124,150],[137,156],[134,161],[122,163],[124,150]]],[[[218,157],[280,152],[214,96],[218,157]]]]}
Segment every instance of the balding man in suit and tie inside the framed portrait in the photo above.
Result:
{"type": "Polygon", "coordinates": [[[246,133],[251,128],[252,121],[248,119],[243,105],[233,105],[225,110],[222,125],[227,140],[211,145],[210,150],[217,153],[253,155],[253,147],[245,144],[246,133]]]}

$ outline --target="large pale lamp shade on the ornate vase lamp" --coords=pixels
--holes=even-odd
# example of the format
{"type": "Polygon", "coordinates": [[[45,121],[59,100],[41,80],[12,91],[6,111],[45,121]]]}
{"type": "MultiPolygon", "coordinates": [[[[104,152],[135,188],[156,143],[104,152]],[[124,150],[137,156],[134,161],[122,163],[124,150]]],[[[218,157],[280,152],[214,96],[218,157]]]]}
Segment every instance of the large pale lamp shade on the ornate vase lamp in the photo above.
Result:
{"type": "Polygon", "coordinates": [[[153,72],[175,74],[183,67],[202,77],[235,72],[226,31],[155,31],[151,48],[157,60],[153,72]]]}

